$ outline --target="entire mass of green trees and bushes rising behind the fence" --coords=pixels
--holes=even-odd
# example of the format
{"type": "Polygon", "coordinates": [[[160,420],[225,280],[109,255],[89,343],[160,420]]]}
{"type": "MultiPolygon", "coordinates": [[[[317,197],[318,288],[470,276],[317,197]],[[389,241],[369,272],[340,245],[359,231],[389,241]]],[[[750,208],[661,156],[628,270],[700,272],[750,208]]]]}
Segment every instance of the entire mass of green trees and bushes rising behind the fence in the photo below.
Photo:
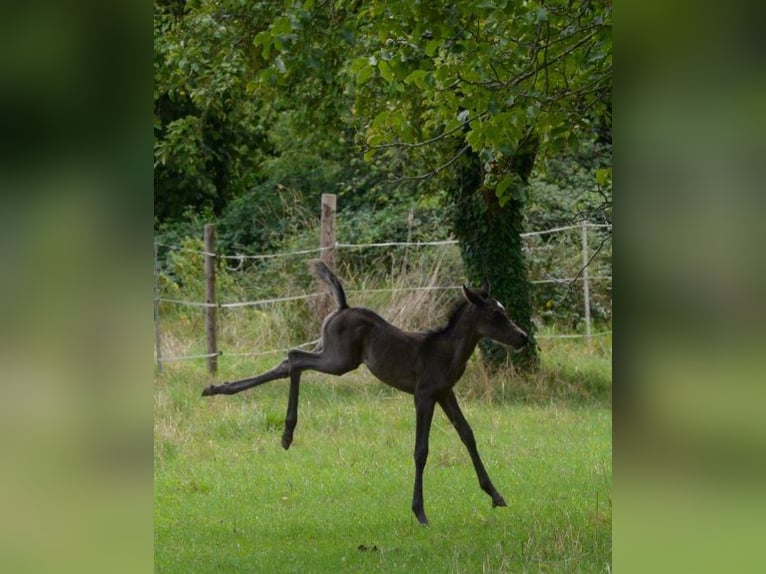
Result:
{"type": "Polygon", "coordinates": [[[154,24],[160,235],[177,245],[204,219],[228,252],[314,247],[335,192],[341,241],[453,234],[469,279],[494,273],[530,331],[540,309],[576,323],[571,298],[525,285],[525,265],[572,271],[518,234],[611,218],[611,2],[156,0],[154,24]],[[475,196],[458,199],[469,153],[475,196]]]}

